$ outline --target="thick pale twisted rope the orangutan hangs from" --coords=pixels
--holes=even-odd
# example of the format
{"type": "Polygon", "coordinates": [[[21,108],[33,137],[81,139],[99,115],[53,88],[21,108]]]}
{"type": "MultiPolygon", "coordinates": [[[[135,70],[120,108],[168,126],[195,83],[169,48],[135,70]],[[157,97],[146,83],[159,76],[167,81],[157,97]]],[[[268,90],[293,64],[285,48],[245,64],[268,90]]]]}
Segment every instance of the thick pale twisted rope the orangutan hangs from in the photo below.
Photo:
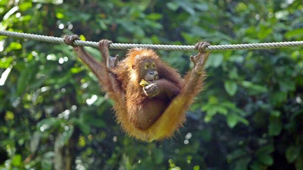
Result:
{"type": "MultiPolygon", "coordinates": [[[[0,35],[8,37],[16,37],[22,39],[31,39],[37,41],[44,41],[49,43],[64,43],[63,38],[50,37],[44,35],[35,35],[27,33],[19,33],[12,31],[0,31],[0,35]]],[[[65,43],[64,43],[65,44],[65,43]]],[[[98,47],[97,42],[92,41],[81,41],[75,40],[74,45],[76,46],[89,46],[98,47]]],[[[177,46],[177,45],[152,45],[152,44],[121,44],[112,43],[109,45],[110,49],[132,49],[136,47],[155,49],[155,50],[167,50],[167,51],[194,51],[194,46],[177,46]]],[[[227,50],[243,50],[243,49],[276,49],[286,47],[303,47],[303,41],[292,41],[292,42],[277,42],[277,43],[256,43],[256,44],[235,44],[235,45],[218,45],[209,46],[205,51],[227,51],[227,50]]]]}

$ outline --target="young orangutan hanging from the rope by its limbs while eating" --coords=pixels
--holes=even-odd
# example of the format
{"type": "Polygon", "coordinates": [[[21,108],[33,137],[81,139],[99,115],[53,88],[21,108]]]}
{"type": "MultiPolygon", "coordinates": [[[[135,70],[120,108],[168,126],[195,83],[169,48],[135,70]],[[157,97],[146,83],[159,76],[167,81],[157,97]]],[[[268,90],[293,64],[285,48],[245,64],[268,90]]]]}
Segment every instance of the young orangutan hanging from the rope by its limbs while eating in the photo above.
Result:
{"type": "MultiPolygon", "coordinates": [[[[77,35],[65,36],[73,46],[77,35]]],[[[99,42],[104,62],[96,61],[83,47],[73,46],[78,56],[96,75],[103,91],[115,101],[117,121],[136,139],[151,142],[171,137],[185,121],[185,112],[202,90],[204,64],[209,53],[206,42],[195,45],[199,53],[191,56],[194,68],[184,78],[165,64],[152,49],[130,49],[117,62],[109,55],[109,40],[99,42]]]]}

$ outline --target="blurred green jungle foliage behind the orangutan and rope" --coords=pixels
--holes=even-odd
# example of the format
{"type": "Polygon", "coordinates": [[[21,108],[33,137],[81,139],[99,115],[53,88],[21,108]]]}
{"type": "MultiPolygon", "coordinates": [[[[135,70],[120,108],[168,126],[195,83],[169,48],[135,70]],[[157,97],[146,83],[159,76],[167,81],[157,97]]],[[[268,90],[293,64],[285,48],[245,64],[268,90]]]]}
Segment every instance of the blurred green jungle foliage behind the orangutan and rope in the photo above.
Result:
{"type": "MultiPolygon", "coordinates": [[[[116,43],[303,40],[302,0],[0,0],[0,18],[116,43]]],[[[158,53],[192,68],[195,52],[158,53]]],[[[0,36],[0,170],[303,170],[303,48],[212,52],[206,70],[180,132],[142,143],[71,47],[0,36]]]]}

